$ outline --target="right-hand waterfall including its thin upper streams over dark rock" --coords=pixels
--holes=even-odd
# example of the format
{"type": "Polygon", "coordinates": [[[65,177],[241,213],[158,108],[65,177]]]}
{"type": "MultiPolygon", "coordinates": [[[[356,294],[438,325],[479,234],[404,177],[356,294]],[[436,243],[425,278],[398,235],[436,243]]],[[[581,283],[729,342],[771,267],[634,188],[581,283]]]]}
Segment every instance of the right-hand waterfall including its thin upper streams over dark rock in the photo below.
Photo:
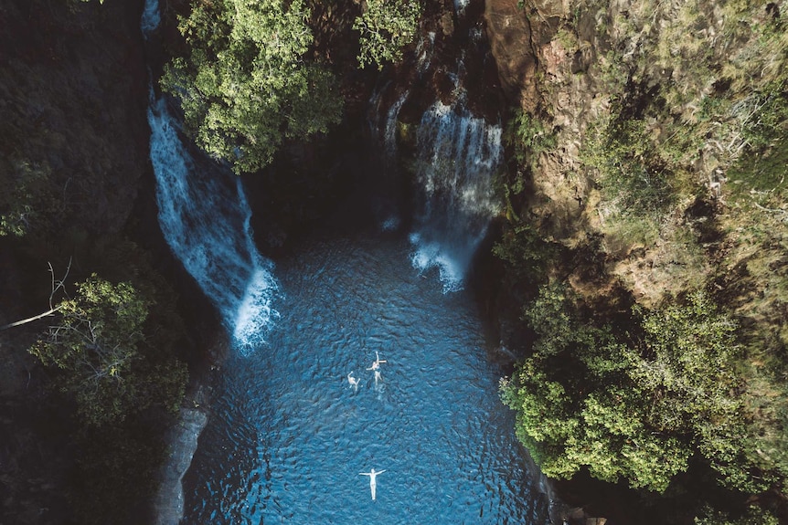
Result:
{"type": "MultiPolygon", "coordinates": [[[[469,2],[454,0],[455,13],[462,16],[469,2]]],[[[469,45],[478,48],[484,35],[482,25],[466,22],[463,21],[463,27],[468,31],[469,45]]],[[[475,117],[466,107],[463,84],[474,74],[465,67],[467,49],[460,49],[452,64],[435,63],[445,58],[435,50],[436,33],[422,33],[414,51],[415,80],[406,86],[398,85],[397,79],[382,81],[370,98],[369,107],[372,134],[383,145],[382,156],[387,166],[396,165],[390,160],[398,154],[399,112],[414,92],[411,87],[429,84],[433,69],[452,83],[452,101],[432,103],[416,130],[410,231],[413,267],[422,274],[437,270],[443,292],[447,293],[463,289],[474,252],[485,238],[490,221],[500,212],[493,181],[503,149],[501,127],[475,117]],[[389,94],[389,101],[384,104],[384,94],[391,89],[396,89],[397,97],[389,94]]],[[[382,223],[381,229],[389,229],[388,225],[382,223]]]]}

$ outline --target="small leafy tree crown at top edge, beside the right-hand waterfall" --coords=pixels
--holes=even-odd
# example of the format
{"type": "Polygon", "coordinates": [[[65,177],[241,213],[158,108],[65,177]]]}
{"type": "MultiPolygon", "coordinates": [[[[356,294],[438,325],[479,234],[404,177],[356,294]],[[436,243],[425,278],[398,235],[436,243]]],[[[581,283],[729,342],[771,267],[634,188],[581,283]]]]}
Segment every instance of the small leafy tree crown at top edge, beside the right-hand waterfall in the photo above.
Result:
{"type": "Polygon", "coordinates": [[[353,28],[360,33],[358,62],[362,68],[402,58],[402,49],[416,38],[421,19],[419,0],[366,0],[353,28]]]}

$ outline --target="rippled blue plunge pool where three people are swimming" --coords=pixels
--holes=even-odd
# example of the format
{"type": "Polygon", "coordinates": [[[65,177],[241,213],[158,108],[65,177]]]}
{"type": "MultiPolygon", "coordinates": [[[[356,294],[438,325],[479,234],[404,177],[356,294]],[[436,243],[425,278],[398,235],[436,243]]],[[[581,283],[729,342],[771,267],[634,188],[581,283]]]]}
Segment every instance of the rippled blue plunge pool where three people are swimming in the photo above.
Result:
{"type": "Polygon", "coordinates": [[[548,521],[473,301],[443,295],[409,250],[392,236],[322,238],[277,263],[281,318],[224,364],[182,523],[548,521]],[[386,469],[374,501],[359,476],[372,467],[386,469]]]}

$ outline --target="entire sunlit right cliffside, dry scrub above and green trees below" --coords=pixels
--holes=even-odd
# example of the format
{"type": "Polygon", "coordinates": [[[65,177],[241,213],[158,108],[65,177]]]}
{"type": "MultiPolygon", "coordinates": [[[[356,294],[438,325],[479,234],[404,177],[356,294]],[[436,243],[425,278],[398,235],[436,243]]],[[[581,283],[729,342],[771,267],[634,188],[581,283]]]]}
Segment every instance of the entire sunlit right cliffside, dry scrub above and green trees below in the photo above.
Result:
{"type": "Polygon", "coordinates": [[[525,4],[495,247],[532,334],[518,436],[555,478],[695,484],[662,522],[788,519],[788,5],[525,4]]]}

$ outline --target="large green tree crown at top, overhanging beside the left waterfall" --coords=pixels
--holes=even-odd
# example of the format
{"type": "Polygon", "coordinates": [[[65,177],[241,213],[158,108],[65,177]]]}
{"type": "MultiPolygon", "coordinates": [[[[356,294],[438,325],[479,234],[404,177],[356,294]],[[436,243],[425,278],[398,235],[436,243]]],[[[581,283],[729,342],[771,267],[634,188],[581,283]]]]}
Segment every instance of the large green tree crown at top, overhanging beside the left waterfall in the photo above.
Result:
{"type": "Polygon", "coordinates": [[[335,78],[303,58],[308,17],[303,0],[202,0],[180,20],[190,55],[168,65],[162,86],[181,101],[197,144],[236,173],[271,163],[285,138],[341,119],[335,78]]]}

